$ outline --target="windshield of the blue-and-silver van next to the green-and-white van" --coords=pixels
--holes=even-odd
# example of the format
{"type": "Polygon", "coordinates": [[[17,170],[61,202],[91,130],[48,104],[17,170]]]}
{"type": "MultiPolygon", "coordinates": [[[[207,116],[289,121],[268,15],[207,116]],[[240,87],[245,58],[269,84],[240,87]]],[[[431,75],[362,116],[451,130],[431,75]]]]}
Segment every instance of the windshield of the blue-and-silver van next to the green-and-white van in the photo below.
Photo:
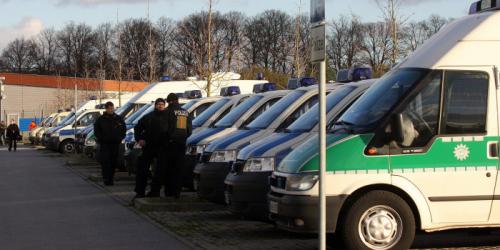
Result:
{"type": "MultiPolygon", "coordinates": [[[[326,97],[326,110],[330,112],[335,105],[340,103],[354,89],[353,86],[342,86],[334,90],[326,97]]],[[[292,123],[285,131],[287,133],[305,133],[311,131],[319,122],[319,106],[314,105],[311,110],[307,111],[297,121],[292,123]]]]}

